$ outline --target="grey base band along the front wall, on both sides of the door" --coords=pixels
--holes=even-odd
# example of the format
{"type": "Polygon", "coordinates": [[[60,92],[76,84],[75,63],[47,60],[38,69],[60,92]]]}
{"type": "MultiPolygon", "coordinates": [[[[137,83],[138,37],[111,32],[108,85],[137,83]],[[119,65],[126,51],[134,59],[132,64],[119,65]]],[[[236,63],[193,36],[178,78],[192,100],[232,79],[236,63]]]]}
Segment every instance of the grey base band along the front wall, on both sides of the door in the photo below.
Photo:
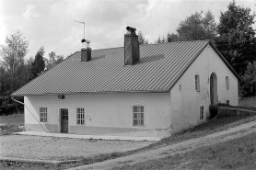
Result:
{"type": "MultiPolygon", "coordinates": [[[[169,137],[170,130],[147,130],[134,128],[112,128],[112,127],[90,127],[90,126],[69,126],[70,134],[81,135],[104,135],[104,136],[131,136],[131,137],[169,137]]],[[[58,125],[52,124],[25,124],[26,131],[40,131],[59,133],[58,125]]]]}

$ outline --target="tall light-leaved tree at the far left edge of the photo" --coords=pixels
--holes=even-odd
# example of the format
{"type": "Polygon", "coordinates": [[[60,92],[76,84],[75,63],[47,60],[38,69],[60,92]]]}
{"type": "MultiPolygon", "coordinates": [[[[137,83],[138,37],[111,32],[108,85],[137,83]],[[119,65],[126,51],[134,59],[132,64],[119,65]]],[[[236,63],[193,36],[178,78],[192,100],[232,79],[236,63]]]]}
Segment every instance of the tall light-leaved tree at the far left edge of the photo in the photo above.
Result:
{"type": "MultiPolygon", "coordinates": [[[[11,94],[21,85],[25,85],[24,57],[28,53],[29,42],[17,30],[6,36],[6,45],[0,45],[0,112],[13,108],[11,94]]],[[[16,103],[15,103],[16,104],[16,103]]],[[[17,107],[17,105],[16,105],[17,107]]],[[[18,110],[17,110],[18,111],[18,110]]]]}

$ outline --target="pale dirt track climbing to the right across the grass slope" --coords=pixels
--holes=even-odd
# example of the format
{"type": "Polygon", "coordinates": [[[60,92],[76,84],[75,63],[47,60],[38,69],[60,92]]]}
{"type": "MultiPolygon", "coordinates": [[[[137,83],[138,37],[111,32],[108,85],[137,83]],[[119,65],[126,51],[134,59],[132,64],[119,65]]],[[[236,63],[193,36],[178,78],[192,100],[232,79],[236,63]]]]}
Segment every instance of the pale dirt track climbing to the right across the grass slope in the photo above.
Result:
{"type": "Polygon", "coordinates": [[[157,149],[149,150],[143,153],[136,153],[133,155],[108,160],[97,164],[88,164],[71,168],[70,170],[77,169],[111,169],[112,167],[121,166],[124,164],[137,164],[140,162],[150,161],[153,159],[159,159],[168,155],[174,155],[177,153],[186,153],[196,148],[212,145],[218,142],[227,142],[232,139],[245,136],[251,132],[256,131],[256,121],[251,121],[246,124],[239,125],[229,130],[219,131],[204,137],[188,140],[185,142],[179,142],[168,146],[160,146],[157,149]]]}

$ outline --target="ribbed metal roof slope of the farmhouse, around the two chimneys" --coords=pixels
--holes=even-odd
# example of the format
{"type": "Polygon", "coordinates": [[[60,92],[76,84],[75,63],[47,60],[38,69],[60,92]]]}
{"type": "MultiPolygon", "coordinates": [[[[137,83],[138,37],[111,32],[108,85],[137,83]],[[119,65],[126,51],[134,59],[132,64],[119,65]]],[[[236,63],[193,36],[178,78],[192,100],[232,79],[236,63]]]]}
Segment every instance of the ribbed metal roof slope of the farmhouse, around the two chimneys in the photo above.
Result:
{"type": "Polygon", "coordinates": [[[94,50],[89,62],[81,62],[77,51],[13,96],[169,92],[208,43],[198,40],[141,45],[140,61],[131,66],[124,65],[123,47],[94,50]]]}

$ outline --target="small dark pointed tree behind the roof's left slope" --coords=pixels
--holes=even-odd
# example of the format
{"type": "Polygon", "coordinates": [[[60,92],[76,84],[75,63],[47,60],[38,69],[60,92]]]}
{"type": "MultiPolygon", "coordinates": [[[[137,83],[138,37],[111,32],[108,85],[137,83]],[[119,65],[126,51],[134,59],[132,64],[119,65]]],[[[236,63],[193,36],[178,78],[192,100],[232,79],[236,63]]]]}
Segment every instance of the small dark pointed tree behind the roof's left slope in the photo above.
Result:
{"type": "Polygon", "coordinates": [[[44,68],[45,68],[45,63],[43,59],[44,52],[45,51],[43,47],[41,47],[40,50],[37,51],[35,60],[34,62],[32,62],[32,65],[31,65],[31,74],[32,74],[31,79],[34,79],[35,77],[40,75],[41,72],[44,71],[44,68]]]}

